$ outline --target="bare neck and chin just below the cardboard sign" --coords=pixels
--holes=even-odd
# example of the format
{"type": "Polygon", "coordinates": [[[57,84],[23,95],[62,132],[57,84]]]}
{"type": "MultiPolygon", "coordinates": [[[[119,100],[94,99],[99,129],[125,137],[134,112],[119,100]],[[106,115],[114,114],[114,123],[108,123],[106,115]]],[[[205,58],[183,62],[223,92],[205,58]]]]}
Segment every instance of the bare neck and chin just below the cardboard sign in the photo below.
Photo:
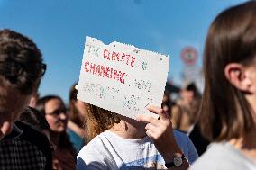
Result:
{"type": "Polygon", "coordinates": [[[146,136],[145,123],[119,115],[121,121],[114,123],[110,131],[124,139],[142,139],[146,136]]]}

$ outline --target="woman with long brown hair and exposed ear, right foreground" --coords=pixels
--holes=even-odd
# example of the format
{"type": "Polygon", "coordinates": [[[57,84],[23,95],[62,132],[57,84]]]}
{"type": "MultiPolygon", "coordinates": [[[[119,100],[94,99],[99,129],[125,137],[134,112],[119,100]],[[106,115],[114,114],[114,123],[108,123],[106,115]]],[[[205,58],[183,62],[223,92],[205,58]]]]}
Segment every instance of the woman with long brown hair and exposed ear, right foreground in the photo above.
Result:
{"type": "Polygon", "coordinates": [[[211,24],[205,48],[200,124],[214,141],[192,170],[256,169],[256,1],[211,24]]]}

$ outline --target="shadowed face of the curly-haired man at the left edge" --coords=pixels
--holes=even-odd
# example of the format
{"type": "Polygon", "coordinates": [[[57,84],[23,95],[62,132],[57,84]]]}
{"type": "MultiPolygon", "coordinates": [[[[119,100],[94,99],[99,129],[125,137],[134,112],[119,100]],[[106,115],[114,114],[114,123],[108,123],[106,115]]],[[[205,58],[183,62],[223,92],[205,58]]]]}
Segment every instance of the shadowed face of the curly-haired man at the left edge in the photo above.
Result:
{"type": "Polygon", "coordinates": [[[21,112],[29,103],[31,95],[20,94],[14,88],[4,89],[0,86],[0,139],[13,129],[21,112]]]}

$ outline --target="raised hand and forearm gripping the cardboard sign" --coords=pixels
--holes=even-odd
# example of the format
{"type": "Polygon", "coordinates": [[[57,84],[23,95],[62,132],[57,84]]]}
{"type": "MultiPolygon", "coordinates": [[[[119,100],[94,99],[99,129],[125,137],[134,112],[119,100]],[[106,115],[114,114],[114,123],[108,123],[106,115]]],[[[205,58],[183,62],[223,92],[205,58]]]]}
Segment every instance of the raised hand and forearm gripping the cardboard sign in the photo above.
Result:
{"type": "MultiPolygon", "coordinates": [[[[148,115],[137,116],[137,121],[144,121],[147,123],[145,129],[146,134],[154,141],[155,147],[160,152],[166,163],[172,162],[175,155],[182,154],[176,139],[173,136],[172,124],[169,115],[158,106],[148,106],[150,112],[159,115],[159,119],[153,118],[148,115]]],[[[182,166],[174,167],[173,169],[187,169],[189,164],[187,160],[184,161],[182,166]]]]}

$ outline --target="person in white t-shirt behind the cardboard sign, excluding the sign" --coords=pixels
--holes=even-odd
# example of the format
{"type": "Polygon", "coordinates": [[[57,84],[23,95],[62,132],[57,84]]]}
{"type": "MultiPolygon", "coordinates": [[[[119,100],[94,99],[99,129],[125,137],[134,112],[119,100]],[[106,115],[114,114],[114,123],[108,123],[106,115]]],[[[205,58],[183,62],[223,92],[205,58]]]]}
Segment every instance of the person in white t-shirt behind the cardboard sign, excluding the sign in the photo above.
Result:
{"type": "Polygon", "coordinates": [[[160,107],[148,109],[160,120],[139,116],[136,121],[89,104],[86,124],[91,140],[78,153],[77,169],[187,169],[198,157],[193,143],[184,133],[172,132],[160,107]]]}

